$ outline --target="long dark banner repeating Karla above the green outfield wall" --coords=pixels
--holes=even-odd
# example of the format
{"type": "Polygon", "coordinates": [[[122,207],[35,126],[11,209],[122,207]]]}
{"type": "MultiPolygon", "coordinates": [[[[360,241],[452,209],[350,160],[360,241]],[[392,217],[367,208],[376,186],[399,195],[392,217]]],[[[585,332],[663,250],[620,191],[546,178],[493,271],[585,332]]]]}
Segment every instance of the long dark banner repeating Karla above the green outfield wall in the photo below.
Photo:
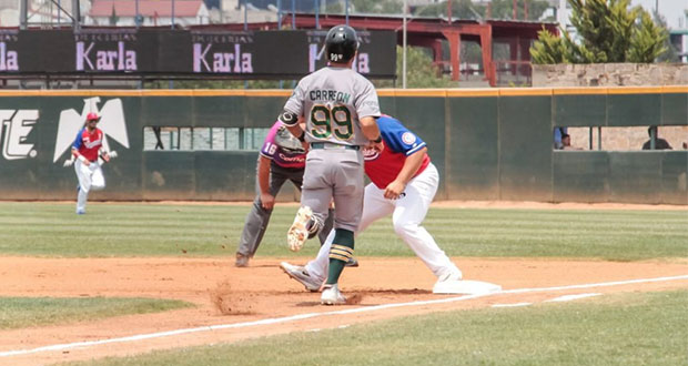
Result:
{"type": "MultiPolygon", "coordinates": [[[[97,29],[0,31],[0,74],[299,79],[326,64],[326,31],[97,29]]],[[[360,35],[355,68],[394,78],[396,35],[360,35]]]]}

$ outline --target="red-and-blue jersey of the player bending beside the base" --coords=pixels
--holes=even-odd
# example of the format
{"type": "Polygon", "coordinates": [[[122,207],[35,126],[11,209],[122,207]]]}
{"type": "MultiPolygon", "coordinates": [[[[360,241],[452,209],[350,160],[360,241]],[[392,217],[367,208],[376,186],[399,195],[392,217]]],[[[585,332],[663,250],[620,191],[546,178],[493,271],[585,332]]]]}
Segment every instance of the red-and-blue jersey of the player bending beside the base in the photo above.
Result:
{"type": "MultiPolygon", "coordinates": [[[[392,183],[409,156],[426,146],[425,141],[406,129],[402,122],[389,115],[377,119],[377,126],[385,145],[382,152],[365,150],[365,174],[381,190],[392,183]]],[[[429,164],[427,154],[423,159],[416,175],[421,174],[429,164]]]]}

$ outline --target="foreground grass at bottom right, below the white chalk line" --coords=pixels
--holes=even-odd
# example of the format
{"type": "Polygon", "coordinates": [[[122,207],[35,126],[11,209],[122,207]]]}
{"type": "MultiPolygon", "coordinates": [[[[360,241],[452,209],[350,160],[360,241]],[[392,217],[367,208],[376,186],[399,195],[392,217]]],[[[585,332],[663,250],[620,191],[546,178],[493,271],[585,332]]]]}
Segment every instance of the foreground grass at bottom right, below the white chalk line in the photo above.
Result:
{"type": "Polygon", "coordinates": [[[70,365],[686,365],[688,291],[395,318],[70,365]]]}

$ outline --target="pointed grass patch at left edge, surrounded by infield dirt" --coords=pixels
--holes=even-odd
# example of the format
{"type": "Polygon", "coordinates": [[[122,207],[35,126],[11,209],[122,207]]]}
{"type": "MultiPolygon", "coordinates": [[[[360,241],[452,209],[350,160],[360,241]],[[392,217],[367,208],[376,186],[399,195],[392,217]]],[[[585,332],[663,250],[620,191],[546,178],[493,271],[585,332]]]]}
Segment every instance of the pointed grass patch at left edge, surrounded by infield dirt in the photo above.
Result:
{"type": "Polygon", "coordinates": [[[0,297],[0,329],[160,313],[192,306],[175,299],[140,297],[0,297]]]}

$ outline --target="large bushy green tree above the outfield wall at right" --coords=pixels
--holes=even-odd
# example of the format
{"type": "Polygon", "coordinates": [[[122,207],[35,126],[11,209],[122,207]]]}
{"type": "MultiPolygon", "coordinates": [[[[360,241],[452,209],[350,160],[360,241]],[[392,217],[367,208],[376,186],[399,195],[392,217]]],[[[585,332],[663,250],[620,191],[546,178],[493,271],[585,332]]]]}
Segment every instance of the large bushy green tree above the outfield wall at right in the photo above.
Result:
{"type": "Polygon", "coordinates": [[[579,42],[561,29],[556,38],[543,30],[530,48],[535,63],[654,62],[666,51],[666,29],[656,26],[630,0],[568,0],[579,42]]]}

